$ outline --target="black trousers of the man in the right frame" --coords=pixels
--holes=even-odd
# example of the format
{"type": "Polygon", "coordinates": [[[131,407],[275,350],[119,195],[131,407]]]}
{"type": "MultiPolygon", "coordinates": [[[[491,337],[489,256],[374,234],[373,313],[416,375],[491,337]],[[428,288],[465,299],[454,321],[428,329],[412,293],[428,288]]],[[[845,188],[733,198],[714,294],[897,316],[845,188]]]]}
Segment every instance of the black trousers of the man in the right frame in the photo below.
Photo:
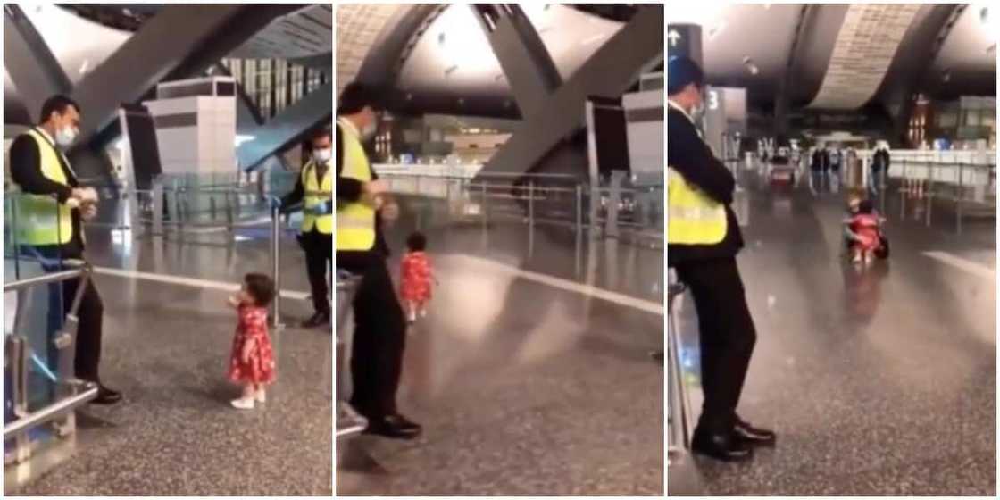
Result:
{"type": "Polygon", "coordinates": [[[734,257],[675,266],[698,312],[701,385],[705,394],[698,427],[728,432],[736,419],[757,333],[734,257]]]}

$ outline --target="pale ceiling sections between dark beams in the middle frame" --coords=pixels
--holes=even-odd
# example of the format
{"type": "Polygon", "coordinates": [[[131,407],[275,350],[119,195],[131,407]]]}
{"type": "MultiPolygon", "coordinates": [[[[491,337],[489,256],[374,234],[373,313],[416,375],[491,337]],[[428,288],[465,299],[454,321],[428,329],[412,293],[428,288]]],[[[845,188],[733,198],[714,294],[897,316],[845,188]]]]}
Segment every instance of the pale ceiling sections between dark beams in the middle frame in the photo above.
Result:
{"type": "MultiPolygon", "coordinates": [[[[521,4],[568,78],[635,13],[628,5],[521,4]]],[[[338,91],[359,79],[402,108],[518,117],[510,86],[467,5],[338,5],[338,91]],[[378,70],[375,70],[378,68],[378,70]]]]}

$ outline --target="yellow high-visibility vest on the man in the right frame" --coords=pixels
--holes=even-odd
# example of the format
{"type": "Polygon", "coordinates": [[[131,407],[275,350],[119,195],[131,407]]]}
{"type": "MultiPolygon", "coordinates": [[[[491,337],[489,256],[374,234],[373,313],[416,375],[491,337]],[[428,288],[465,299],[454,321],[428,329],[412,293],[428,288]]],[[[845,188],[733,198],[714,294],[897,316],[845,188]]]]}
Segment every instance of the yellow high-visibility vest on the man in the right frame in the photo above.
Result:
{"type": "Polygon", "coordinates": [[[667,244],[714,245],[726,237],[726,208],[667,169],[667,244]]]}

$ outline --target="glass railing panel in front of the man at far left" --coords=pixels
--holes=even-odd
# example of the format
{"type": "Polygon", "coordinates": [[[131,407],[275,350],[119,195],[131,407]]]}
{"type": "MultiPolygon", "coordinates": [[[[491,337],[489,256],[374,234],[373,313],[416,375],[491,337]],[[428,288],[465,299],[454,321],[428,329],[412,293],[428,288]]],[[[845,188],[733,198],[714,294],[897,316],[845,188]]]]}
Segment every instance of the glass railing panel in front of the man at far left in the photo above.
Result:
{"type": "Polygon", "coordinates": [[[72,434],[72,408],[96,395],[73,378],[76,323],[64,314],[64,301],[77,299],[66,296],[66,283],[89,279],[89,271],[62,259],[57,246],[39,245],[43,228],[60,234],[53,201],[19,192],[4,198],[5,464],[72,434]]]}

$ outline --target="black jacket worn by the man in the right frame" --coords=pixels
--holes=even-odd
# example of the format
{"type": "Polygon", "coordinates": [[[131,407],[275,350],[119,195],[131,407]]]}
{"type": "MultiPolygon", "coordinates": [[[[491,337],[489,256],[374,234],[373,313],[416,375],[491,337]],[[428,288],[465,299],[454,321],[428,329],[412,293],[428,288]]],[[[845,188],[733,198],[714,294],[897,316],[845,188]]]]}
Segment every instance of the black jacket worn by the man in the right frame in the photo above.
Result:
{"type": "Polygon", "coordinates": [[[692,261],[730,258],[743,248],[743,235],[730,204],[736,180],[729,169],[712,153],[684,113],[667,111],[667,166],[676,170],[689,184],[726,206],[726,236],[714,245],[668,245],[668,265],[692,261]]]}

